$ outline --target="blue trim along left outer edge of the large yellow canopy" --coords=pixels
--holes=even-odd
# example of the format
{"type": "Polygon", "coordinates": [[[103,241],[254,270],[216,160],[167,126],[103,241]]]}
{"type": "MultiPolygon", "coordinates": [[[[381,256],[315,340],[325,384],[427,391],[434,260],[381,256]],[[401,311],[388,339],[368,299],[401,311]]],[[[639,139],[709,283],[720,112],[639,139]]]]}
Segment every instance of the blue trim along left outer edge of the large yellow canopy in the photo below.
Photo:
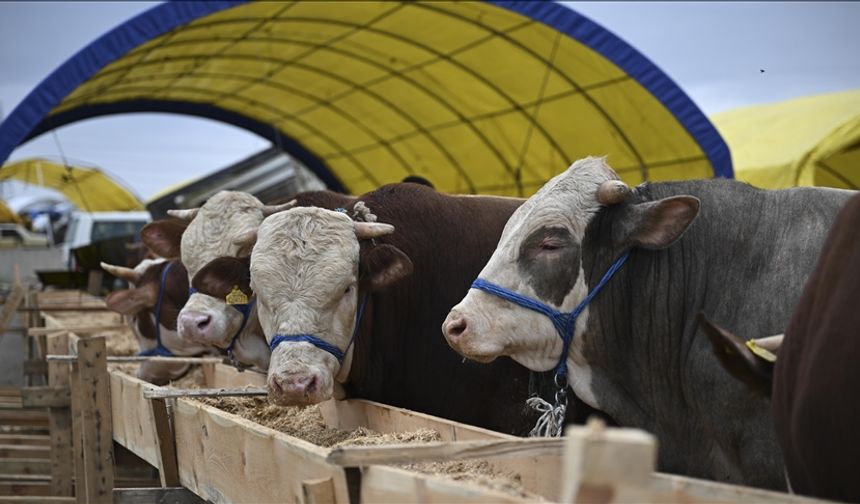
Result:
{"type": "MultiPolygon", "coordinates": [[[[102,35],[46,77],[0,124],[0,164],[46,120],[48,113],[87,79],[135,47],[195,19],[246,0],[167,2],[102,35]]],[[[45,129],[52,129],[45,128],[45,129]]]]}

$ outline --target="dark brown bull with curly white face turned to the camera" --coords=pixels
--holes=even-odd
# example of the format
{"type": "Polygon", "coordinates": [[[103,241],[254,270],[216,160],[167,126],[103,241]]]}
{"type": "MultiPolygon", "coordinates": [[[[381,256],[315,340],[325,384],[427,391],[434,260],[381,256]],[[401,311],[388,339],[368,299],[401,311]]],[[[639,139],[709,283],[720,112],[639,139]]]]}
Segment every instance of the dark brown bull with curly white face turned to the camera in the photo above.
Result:
{"type": "Polygon", "coordinates": [[[343,197],[340,211],[299,206],[266,218],[251,287],[274,348],[270,400],[345,394],[526,433],[528,370],[467,362],[435,329],[521,203],[401,183],[343,197]]]}

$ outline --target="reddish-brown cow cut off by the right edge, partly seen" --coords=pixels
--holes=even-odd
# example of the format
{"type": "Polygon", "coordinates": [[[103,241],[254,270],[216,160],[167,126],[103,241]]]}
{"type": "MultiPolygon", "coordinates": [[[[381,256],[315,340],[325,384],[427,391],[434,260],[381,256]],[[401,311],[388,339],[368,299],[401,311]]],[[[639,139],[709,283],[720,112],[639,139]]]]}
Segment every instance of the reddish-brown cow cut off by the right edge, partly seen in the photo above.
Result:
{"type": "Polygon", "coordinates": [[[730,373],[772,397],[792,490],[845,502],[860,501],[860,408],[853,403],[860,384],[858,225],[854,196],[833,224],[784,336],[748,342],[700,319],[730,373]],[[773,356],[756,351],[762,347],[773,356]]]}

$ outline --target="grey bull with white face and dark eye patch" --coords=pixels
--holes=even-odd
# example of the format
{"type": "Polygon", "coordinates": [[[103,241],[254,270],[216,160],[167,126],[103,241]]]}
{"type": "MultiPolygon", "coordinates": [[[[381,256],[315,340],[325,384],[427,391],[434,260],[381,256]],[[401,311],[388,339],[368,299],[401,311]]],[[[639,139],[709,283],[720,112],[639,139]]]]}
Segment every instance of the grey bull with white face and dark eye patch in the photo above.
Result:
{"type": "Polygon", "coordinates": [[[712,358],[696,314],[780,332],[851,194],[725,179],[631,190],[604,158],[579,160],[511,216],[442,332],[470,359],[555,369],[655,433],[661,470],[784,488],[766,400],[712,358]]]}

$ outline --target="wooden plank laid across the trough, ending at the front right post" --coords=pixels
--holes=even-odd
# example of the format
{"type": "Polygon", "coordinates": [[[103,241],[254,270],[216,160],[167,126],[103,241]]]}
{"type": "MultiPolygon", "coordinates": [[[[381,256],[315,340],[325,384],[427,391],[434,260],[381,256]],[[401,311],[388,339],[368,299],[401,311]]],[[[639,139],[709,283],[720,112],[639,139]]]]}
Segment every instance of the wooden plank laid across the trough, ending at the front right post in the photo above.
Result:
{"type": "Polygon", "coordinates": [[[559,456],[563,447],[564,440],[558,438],[339,446],[329,453],[326,461],[344,467],[361,467],[372,464],[394,465],[435,460],[486,459],[511,454],[559,456]]]}

